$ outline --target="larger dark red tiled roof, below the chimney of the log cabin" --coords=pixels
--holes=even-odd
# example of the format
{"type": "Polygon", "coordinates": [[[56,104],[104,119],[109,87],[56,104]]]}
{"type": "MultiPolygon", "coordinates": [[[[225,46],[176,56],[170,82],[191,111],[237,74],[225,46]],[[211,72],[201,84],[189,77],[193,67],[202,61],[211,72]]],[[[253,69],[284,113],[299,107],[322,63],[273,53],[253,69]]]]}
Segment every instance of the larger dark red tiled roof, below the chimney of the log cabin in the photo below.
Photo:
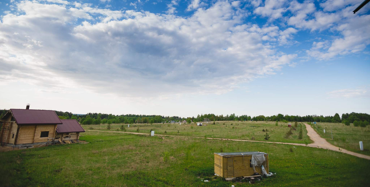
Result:
{"type": "Polygon", "coordinates": [[[10,109],[10,111],[18,125],[62,123],[54,110],[10,109]]]}

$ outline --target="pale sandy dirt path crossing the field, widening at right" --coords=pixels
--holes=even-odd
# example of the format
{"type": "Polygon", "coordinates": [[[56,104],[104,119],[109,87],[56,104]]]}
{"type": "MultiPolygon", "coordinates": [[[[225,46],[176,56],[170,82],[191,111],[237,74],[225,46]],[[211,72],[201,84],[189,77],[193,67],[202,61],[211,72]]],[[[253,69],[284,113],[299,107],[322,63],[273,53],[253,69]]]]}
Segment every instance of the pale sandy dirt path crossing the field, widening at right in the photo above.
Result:
{"type": "MultiPolygon", "coordinates": [[[[316,148],[323,148],[323,149],[330,149],[333,151],[339,151],[339,147],[333,146],[330,143],[326,142],[325,139],[320,137],[310,125],[306,125],[307,129],[307,135],[310,136],[310,138],[313,140],[313,143],[308,144],[309,147],[316,147],[316,148]]],[[[150,135],[147,133],[138,133],[138,132],[119,132],[119,131],[107,131],[107,130],[88,130],[88,131],[96,131],[96,132],[117,132],[117,133],[129,133],[129,134],[135,134],[135,135],[150,135]]],[[[240,142],[262,142],[262,143],[278,143],[278,144],[287,144],[287,145],[296,145],[296,146],[306,146],[303,143],[283,143],[283,142],[263,142],[263,141],[254,141],[254,140],[239,140],[239,139],[228,139],[228,138],[212,138],[212,137],[194,137],[194,136],[173,136],[173,135],[158,135],[155,134],[155,136],[169,136],[169,137],[188,137],[188,138],[200,138],[200,139],[210,139],[210,140],[231,140],[231,141],[240,141],[240,142]]],[[[341,152],[351,154],[353,156],[357,156],[360,158],[368,159],[370,160],[370,156],[354,153],[347,151],[345,149],[340,149],[341,152]]]]}

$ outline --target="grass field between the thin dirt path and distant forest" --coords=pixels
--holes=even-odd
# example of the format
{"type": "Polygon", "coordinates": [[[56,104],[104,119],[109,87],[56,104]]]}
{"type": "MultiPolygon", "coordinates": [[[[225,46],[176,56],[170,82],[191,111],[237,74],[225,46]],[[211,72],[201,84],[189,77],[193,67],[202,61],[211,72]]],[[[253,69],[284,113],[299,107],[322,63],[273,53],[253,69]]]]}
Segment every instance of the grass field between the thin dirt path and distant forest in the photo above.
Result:
{"type": "MultiPolygon", "coordinates": [[[[125,126],[126,132],[150,133],[154,130],[160,135],[175,135],[175,136],[196,136],[196,137],[213,137],[213,138],[228,138],[228,139],[243,139],[243,140],[258,140],[269,142],[286,142],[286,143],[311,143],[312,140],[307,136],[305,125],[302,125],[303,138],[298,139],[299,129],[293,130],[293,135],[285,139],[283,136],[289,130],[287,123],[279,123],[275,126],[275,122],[250,122],[250,121],[219,121],[215,125],[211,123],[203,123],[206,126],[196,126],[195,123],[155,123],[155,124],[132,124],[127,127],[127,124],[111,124],[111,131],[122,131],[121,125],[125,126]],[[225,125],[223,125],[225,124],[225,125]],[[139,129],[139,131],[137,131],[139,129]],[[265,140],[266,132],[270,135],[269,140],[265,140]]],[[[107,130],[107,124],[100,125],[83,125],[85,130],[107,130]]]]}

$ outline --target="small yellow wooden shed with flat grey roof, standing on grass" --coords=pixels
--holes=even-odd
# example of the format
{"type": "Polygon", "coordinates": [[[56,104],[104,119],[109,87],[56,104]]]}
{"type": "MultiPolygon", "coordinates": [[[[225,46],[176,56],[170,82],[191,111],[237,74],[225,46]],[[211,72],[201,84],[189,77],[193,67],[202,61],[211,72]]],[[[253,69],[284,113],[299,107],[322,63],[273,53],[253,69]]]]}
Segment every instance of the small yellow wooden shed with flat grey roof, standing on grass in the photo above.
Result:
{"type": "MultiPolygon", "coordinates": [[[[224,178],[252,176],[252,156],[264,157],[262,165],[269,173],[269,155],[263,152],[214,153],[215,173],[224,178]]],[[[257,173],[262,174],[261,166],[255,166],[257,173]]]]}

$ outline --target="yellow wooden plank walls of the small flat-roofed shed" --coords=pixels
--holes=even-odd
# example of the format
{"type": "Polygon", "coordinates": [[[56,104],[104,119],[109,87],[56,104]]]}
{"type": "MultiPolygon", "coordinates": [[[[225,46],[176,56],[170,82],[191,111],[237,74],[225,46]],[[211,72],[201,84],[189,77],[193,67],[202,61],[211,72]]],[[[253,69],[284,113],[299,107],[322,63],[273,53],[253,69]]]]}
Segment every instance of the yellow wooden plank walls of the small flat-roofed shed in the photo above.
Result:
{"type": "MultiPolygon", "coordinates": [[[[215,173],[224,178],[252,176],[254,171],[250,167],[251,159],[252,155],[222,157],[215,154],[215,173]]],[[[265,159],[262,165],[266,166],[265,169],[269,172],[269,156],[265,155],[265,159]]],[[[262,174],[260,166],[256,166],[256,171],[262,174]]]]}

